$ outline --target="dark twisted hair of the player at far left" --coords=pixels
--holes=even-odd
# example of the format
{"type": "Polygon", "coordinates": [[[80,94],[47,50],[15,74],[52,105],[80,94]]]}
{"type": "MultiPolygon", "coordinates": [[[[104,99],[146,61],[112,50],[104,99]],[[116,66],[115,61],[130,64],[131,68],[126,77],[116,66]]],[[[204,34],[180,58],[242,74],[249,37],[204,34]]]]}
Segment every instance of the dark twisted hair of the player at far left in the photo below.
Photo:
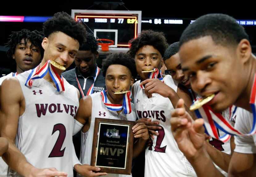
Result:
{"type": "Polygon", "coordinates": [[[43,41],[43,33],[37,30],[30,31],[28,29],[22,29],[20,31],[14,31],[9,36],[9,41],[6,43],[6,47],[9,47],[7,51],[7,57],[12,58],[15,53],[16,46],[21,44],[21,40],[24,39],[25,45],[29,40],[32,45],[35,45],[40,49],[41,57],[43,58],[44,49],[41,45],[43,41]]]}

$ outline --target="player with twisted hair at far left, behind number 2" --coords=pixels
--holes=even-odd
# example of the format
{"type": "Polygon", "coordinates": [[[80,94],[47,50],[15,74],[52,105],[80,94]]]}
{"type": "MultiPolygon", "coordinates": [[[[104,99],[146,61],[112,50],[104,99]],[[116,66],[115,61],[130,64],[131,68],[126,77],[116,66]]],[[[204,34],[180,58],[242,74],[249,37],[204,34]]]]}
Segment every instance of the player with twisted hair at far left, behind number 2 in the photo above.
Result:
{"type": "MultiPolygon", "coordinates": [[[[10,73],[1,77],[0,89],[2,81],[6,78],[14,77],[39,65],[40,60],[43,58],[42,41],[43,34],[36,30],[22,29],[10,35],[7,43],[7,47],[9,47],[7,57],[15,60],[16,73],[10,73]]],[[[7,168],[7,164],[0,158],[0,175],[7,175],[7,168]]]]}

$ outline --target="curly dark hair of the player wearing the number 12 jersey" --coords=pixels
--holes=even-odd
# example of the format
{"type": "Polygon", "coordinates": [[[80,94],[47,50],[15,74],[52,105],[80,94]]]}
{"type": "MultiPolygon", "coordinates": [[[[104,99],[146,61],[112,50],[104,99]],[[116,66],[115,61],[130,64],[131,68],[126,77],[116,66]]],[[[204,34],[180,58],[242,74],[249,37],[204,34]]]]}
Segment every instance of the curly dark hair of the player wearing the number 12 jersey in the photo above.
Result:
{"type": "Polygon", "coordinates": [[[128,53],[135,57],[138,50],[144,45],[152,45],[155,49],[161,53],[162,57],[164,55],[165,50],[168,47],[167,40],[162,32],[156,32],[153,30],[143,30],[137,38],[131,39],[130,50],[128,53]]]}

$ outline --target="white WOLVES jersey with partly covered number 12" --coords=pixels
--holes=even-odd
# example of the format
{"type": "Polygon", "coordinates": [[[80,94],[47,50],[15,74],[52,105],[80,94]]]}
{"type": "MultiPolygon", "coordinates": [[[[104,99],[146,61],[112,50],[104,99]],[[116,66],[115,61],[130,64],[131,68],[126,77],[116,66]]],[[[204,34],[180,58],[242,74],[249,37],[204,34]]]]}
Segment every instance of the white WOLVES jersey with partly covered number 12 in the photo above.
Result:
{"type": "MultiPolygon", "coordinates": [[[[163,82],[177,92],[177,84],[171,76],[166,75],[163,82]]],[[[196,176],[171,133],[170,118],[174,108],[169,98],[157,93],[148,98],[144,89],[140,88],[140,81],[137,81],[134,84],[134,106],[138,118],[151,118],[162,127],[158,131],[159,136],[155,136],[153,145],[146,149],[145,177],[196,176]]]]}

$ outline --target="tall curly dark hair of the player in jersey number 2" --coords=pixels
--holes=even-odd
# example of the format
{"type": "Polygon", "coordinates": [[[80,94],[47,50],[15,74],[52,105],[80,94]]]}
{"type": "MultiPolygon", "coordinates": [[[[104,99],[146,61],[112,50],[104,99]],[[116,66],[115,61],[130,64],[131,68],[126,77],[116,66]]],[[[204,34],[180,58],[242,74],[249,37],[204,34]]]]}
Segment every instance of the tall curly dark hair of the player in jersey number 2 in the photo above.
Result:
{"type": "Polygon", "coordinates": [[[86,29],[76,22],[66,12],[57,12],[52,18],[43,23],[44,37],[49,37],[52,33],[62,32],[76,39],[79,44],[86,42],[86,29]]]}

